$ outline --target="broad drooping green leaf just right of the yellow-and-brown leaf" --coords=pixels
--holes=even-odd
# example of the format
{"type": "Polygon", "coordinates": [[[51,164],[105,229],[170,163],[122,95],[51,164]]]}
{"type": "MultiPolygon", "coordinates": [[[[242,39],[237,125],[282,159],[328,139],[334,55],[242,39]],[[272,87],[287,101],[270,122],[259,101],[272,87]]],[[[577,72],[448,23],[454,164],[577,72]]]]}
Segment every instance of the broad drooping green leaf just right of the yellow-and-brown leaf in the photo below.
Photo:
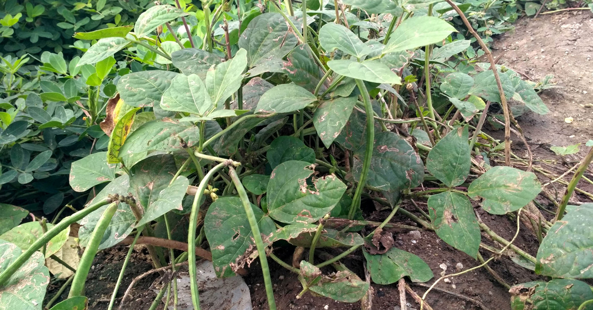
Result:
{"type": "Polygon", "coordinates": [[[171,119],[153,120],[130,133],[119,154],[126,166],[130,167],[135,164],[131,162],[136,160],[132,156],[134,154],[146,151],[182,151],[184,148],[181,141],[192,148],[199,143],[199,140],[200,129],[197,126],[171,119]]]}

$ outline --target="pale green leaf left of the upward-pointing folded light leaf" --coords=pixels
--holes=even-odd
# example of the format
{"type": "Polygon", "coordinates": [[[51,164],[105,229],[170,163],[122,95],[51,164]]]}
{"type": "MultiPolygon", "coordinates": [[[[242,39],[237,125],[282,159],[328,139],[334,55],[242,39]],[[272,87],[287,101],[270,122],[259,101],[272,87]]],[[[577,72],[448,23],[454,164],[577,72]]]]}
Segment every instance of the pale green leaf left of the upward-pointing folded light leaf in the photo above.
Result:
{"type": "Polygon", "coordinates": [[[178,74],[162,94],[161,108],[167,111],[203,115],[213,107],[206,85],[199,76],[178,74]]]}

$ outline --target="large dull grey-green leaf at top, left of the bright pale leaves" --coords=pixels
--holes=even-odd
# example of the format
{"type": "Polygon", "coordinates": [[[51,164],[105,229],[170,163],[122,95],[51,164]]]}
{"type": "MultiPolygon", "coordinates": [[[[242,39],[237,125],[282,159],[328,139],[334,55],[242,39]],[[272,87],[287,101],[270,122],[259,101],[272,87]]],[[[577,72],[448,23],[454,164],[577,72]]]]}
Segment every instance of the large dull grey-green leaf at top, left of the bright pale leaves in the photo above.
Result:
{"type": "Polygon", "coordinates": [[[272,59],[282,59],[297,45],[279,13],[264,13],[253,18],[239,37],[239,47],[247,50],[249,68],[272,59]]]}

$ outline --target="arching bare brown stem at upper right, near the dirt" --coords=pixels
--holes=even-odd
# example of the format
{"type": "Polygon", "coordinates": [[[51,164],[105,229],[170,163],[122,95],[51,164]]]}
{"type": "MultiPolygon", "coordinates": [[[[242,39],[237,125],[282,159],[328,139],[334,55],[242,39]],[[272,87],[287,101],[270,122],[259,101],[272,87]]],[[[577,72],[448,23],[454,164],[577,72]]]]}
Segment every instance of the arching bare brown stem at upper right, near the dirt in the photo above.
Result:
{"type": "Polygon", "coordinates": [[[498,76],[498,70],[496,70],[496,63],[494,58],[492,57],[492,53],[490,49],[486,46],[486,43],[482,40],[479,34],[476,33],[473,27],[471,27],[471,23],[467,20],[466,15],[456,4],[454,4],[451,0],[445,0],[451,7],[459,14],[461,20],[466,25],[467,30],[476,38],[484,53],[486,53],[486,57],[490,62],[490,69],[494,73],[494,79],[496,80],[496,87],[498,87],[498,92],[500,94],[500,106],[502,106],[503,114],[505,115],[505,165],[511,165],[511,112],[509,111],[509,106],[506,103],[506,96],[505,91],[502,88],[502,82],[500,82],[500,76],[498,76]]]}

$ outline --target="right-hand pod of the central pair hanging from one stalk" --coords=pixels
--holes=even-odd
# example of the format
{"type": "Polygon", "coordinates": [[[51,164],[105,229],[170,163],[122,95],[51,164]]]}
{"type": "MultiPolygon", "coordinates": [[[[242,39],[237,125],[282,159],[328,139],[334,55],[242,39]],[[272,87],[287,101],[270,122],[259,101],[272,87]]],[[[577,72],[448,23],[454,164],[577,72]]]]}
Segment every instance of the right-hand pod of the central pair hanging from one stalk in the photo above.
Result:
{"type": "Polygon", "coordinates": [[[253,209],[251,209],[251,203],[249,202],[249,197],[247,197],[247,192],[239,180],[239,176],[237,175],[237,171],[234,168],[229,167],[229,175],[232,178],[232,182],[235,184],[237,188],[237,192],[239,197],[241,198],[241,202],[243,202],[243,207],[245,208],[245,213],[247,215],[247,220],[249,221],[249,225],[251,226],[251,235],[253,235],[253,239],[256,242],[257,252],[260,258],[260,264],[262,265],[262,273],[263,273],[263,281],[266,285],[266,295],[267,295],[267,303],[270,306],[270,310],[276,310],[276,301],[274,299],[274,291],[272,288],[272,278],[270,277],[270,269],[267,266],[267,258],[266,258],[266,247],[262,241],[262,234],[260,234],[259,226],[257,226],[257,219],[253,213],[253,209]]]}

